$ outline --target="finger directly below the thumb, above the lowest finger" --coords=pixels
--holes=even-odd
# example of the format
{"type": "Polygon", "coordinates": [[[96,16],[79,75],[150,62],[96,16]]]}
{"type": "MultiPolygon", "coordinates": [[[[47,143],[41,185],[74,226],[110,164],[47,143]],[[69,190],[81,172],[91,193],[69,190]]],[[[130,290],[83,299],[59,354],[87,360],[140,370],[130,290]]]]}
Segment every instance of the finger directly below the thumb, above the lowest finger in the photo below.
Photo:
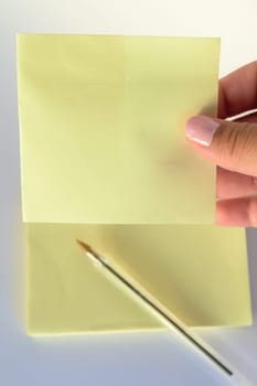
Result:
{"type": "Polygon", "coordinates": [[[217,168],[217,199],[231,200],[257,194],[257,178],[217,168]]]}

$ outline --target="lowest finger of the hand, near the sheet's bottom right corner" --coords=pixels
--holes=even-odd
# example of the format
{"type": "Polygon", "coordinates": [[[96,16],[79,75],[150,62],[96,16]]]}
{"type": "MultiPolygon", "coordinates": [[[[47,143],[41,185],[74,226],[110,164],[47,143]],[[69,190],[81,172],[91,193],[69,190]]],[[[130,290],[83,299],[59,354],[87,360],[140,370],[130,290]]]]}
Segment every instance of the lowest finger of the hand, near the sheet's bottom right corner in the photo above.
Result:
{"type": "Polygon", "coordinates": [[[228,226],[257,226],[257,197],[218,201],[216,223],[228,226]]]}

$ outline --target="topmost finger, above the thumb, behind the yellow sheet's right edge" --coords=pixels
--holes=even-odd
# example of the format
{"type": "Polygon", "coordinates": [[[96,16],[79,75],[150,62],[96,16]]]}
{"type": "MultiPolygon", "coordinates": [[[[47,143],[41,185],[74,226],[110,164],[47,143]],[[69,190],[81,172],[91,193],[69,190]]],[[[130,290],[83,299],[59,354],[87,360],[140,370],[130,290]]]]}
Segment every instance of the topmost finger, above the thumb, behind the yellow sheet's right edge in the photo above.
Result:
{"type": "Polygon", "coordinates": [[[219,118],[257,108],[257,61],[223,77],[218,86],[219,118]]]}

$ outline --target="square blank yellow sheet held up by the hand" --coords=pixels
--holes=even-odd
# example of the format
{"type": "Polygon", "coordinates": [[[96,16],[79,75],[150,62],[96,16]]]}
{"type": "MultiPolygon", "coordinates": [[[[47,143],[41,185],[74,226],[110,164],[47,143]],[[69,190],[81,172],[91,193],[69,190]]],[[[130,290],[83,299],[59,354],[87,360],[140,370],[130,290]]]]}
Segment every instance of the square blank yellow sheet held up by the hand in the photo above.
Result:
{"type": "Polygon", "coordinates": [[[218,39],[18,35],[23,219],[213,223],[215,170],[184,136],[215,116],[218,39]]]}

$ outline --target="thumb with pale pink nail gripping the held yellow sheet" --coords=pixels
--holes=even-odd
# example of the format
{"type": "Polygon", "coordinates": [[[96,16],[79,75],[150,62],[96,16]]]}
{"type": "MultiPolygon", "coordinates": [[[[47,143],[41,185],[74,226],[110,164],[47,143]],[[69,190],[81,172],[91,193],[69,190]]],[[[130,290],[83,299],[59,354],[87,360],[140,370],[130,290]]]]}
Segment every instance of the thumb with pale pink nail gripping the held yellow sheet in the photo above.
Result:
{"type": "Polygon", "coordinates": [[[195,116],[185,131],[193,147],[217,165],[257,176],[257,124],[195,116]]]}

